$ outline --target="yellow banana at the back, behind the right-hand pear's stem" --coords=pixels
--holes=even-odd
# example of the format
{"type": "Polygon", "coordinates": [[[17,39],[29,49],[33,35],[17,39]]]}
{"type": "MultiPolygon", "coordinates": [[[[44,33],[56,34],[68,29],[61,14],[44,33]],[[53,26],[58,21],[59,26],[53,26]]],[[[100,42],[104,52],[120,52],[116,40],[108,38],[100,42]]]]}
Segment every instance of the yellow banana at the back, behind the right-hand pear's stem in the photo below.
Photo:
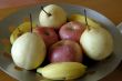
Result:
{"type": "MultiPolygon", "coordinates": [[[[101,27],[100,23],[95,22],[94,20],[87,18],[88,24],[91,27],[101,27]]],[[[83,14],[72,14],[69,17],[69,21],[79,21],[85,24],[85,17],[83,14]]]]}

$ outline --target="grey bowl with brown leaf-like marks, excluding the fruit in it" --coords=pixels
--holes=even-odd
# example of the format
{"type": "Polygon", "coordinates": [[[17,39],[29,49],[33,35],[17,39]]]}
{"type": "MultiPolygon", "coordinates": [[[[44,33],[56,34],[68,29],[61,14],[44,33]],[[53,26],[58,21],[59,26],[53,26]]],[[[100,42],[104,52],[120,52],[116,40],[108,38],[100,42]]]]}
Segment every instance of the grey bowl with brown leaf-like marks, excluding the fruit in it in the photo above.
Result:
{"type": "MultiPolygon", "coordinates": [[[[18,27],[20,23],[29,19],[30,12],[32,13],[33,23],[39,24],[38,16],[41,10],[41,6],[47,6],[47,4],[49,3],[43,3],[43,4],[38,4],[21,9],[16,13],[10,14],[0,22],[0,34],[1,34],[0,36],[0,69],[7,72],[8,74],[10,74],[11,77],[16,78],[17,80],[40,81],[43,79],[41,75],[35,73],[34,70],[32,71],[21,70],[14,65],[10,54],[11,44],[9,41],[9,37],[16,27],[18,27]]],[[[112,52],[112,55],[106,60],[100,61],[96,64],[90,67],[87,71],[87,74],[80,79],[77,79],[77,81],[81,81],[81,80],[98,81],[104,78],[110,72],[112,72],[122,60],[122,54],[121,54],[122,34],[115,28],[115,24],[103,14],[94,10],[91,10],[89,8],[74,6],[74,4],[65,4],[65,3],[57,3],[57,4],[61,6],[68,12],[68,16],[72,13],[83,14],[83,10],[87,9],[88,17],[102,24],[113,36],[114,50],[112,52]]]]}

